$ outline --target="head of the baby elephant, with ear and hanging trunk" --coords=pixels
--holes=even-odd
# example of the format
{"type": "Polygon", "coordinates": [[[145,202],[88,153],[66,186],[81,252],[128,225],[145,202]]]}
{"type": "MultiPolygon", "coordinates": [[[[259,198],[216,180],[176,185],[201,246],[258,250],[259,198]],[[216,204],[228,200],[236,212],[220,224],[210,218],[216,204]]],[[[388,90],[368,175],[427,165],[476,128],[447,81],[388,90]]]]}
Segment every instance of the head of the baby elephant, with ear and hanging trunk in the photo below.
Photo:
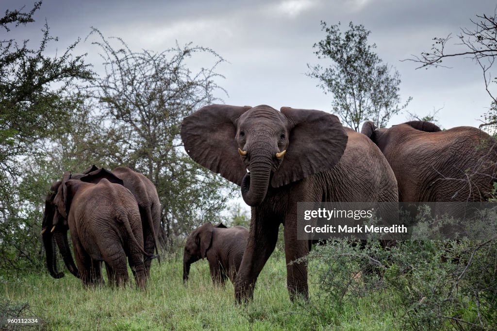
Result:
{"type": "Polygon", "coordinates": [[[190,265],[201,258],[205,258],[207,249],[212,244],[212,230],[214,228],[226,228],[223,223],[213,226],[210,222],[204,223],[193,230],[186,239],[183,252],[183,282],[186,283],[190,274],[190,265]]]}

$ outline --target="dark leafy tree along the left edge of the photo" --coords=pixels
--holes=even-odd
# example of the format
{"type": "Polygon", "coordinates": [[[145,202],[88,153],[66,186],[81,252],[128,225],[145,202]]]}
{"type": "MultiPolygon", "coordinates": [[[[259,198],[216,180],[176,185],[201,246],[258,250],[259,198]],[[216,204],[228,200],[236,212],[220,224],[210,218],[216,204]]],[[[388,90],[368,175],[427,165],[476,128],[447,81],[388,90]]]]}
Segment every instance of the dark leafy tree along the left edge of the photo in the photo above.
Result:
{"type": "MultiPolygon", "coordinates": [[[[40,6],[41,1],[29,12],[6,10],[0,30],[7,35],[11,28],[34,22],[40,6]]],[[[38,48],[30,48],[29,40],[0,40],[0,269],[4,270],[41,263],[37,236],[49,185],[38,147],[74,106],[66,97],[69,84],[91,78],[84,55],[72,54],[79,40],[54,57],[45,55],[51,42],[57,38],[49,34],[47,23],[38,48]]]]}

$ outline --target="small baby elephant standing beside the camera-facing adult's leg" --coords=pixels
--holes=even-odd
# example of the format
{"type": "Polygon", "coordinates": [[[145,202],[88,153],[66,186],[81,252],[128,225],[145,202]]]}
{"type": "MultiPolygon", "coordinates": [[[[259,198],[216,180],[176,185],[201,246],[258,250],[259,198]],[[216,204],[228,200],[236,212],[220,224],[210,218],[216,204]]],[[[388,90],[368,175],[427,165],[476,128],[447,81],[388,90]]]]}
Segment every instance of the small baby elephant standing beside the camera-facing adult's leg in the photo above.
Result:
{"type": "Polygon", "coordinates": [[[235,284],[247,238],[247,228],[227,228],[222,223],[213,226],[207,222],[193,230],[186,239],[183,254],[183,282],[188,280],[190,265],[207,257],[214,285],[224,286],[227,277],[235,284]]]}

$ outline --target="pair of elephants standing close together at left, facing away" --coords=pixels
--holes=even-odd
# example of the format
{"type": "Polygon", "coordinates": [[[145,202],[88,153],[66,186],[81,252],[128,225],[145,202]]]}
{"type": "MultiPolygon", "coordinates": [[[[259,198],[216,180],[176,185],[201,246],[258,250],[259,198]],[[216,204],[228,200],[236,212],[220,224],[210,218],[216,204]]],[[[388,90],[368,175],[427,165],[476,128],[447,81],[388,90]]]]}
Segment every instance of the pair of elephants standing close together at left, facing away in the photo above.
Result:
{"type": "Polygon", "coordinates": [[[85,286],[102,282],[102,261],[109,284],[126,283],[128,258],[137,285],[145,288],[151,259],[158,257],[160,221],[157,190],[144,175],[127,167],[108,171],[94,165],[83,173],[67,171],[45,197],[42,237],[48,271],[54,278],[64,276],[57,269],[56,243],[69,271],[85,286]]]}

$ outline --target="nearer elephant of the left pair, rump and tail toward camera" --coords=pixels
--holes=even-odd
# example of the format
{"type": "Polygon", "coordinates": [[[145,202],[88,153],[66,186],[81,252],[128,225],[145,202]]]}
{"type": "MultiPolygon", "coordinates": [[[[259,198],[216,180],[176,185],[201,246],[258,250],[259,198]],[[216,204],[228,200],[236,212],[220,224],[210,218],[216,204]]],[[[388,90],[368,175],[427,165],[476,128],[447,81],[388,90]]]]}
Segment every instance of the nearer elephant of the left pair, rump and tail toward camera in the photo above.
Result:
{"type": "Polygon", "coordinates": [[[143,249],[138,203],[127,188],[106,178],[96,184],[71,179],[66,171],[54,203],[55,213],[68,221],[84,286],[102,281],[101,261],[109,284],[123,286],[128,280],[128,257],[137,285],[145,289],[144,257],[153,256],[143,249]]]}

